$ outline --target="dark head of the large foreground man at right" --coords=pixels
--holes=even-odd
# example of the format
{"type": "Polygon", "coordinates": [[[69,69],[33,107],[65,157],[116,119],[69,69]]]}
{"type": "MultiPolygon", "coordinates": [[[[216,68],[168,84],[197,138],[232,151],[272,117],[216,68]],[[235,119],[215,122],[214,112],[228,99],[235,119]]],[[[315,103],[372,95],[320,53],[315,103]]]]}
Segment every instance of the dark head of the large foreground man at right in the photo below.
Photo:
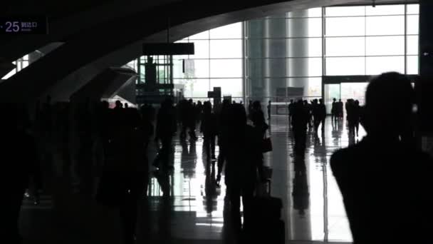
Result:
{"type": "Polygon", "coordinates": [[[370,81],[362,119],[369,136],[398,138],[412,131],[414,90],[407,76],[382,73],[370,81]]]}

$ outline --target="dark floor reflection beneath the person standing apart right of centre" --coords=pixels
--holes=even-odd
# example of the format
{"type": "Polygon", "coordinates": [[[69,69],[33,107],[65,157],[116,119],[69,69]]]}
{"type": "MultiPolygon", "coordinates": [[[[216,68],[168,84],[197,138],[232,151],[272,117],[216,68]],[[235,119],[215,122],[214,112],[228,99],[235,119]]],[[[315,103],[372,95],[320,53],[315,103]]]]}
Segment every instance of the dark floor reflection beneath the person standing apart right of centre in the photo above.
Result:
{"type": "Polygon", "coordinates": [[[298,210],[299,215],[304,216],[310,204],[310,193],[308,190],[306,162],[303,157],[295,157],[293,178],[293,208],[298,210]]]}

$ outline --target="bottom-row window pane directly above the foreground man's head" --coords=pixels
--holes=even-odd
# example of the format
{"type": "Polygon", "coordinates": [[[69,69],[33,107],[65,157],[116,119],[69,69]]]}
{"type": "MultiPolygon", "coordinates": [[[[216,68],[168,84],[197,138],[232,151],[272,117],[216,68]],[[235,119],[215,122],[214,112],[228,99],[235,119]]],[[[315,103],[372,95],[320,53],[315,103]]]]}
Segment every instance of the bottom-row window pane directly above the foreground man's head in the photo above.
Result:
{"type": "Polygon", "coordinates": [[[405,73],[405,56],[367,57],[367,75],[378,75],[385,72],[405,73]]]}

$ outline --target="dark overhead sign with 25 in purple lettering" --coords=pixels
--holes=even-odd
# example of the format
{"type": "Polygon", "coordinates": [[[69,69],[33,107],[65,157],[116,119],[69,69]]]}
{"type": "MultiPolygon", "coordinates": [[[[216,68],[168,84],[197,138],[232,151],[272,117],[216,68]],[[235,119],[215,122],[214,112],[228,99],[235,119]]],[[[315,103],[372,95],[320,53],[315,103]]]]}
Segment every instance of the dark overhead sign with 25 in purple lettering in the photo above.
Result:
{"type": "Polygon", "coordinates": [[[46,16],[0,16],[0,34],[48,34],[46,16]]]}

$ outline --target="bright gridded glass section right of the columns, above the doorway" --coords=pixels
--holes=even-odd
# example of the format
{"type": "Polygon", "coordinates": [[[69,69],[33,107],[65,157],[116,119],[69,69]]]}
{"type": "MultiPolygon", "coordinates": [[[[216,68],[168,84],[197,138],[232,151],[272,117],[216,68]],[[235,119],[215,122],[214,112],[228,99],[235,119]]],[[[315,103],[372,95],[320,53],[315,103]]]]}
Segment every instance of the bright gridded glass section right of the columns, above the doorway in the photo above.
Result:
{"type": "Polygon", "coordinates": [[[324,9],[325,75],[418,73],[419,5],[324,9]]]}

